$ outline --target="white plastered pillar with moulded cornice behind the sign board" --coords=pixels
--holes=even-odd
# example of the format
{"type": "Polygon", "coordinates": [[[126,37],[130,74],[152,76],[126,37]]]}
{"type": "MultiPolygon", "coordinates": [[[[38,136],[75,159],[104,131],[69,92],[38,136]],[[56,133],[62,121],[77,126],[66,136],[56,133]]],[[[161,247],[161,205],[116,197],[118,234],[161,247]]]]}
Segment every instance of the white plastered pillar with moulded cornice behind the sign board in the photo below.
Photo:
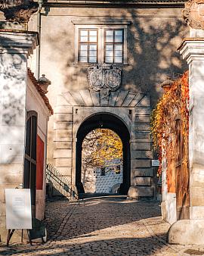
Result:
{"type": "MultiPolygon", "coordinates": [[[[5,188],[23,183],[27,59],[37,33],[0,30],[0,235],[5,241],[5,188]]],[[[19,234],[20,235],[20,234],[19,234]]],[[[14,241],[20,241],[17,232],[14,241]],[[19,239],[18,239],[19,238],[19,239]]]]}

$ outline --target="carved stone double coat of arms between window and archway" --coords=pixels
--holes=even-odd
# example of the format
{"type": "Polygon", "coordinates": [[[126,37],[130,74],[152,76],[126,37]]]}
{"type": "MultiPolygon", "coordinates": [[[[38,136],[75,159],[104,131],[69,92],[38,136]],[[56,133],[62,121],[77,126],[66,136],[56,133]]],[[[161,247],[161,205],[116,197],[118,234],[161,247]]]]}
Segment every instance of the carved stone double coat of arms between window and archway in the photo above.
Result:
{"type": "Polygon", "coordinates": [[[88,68],[88,82],[91,89],[108,98],[110,91],[116,91],[121,84],[121,68],[116,65],[97,65],[88,68]]]}

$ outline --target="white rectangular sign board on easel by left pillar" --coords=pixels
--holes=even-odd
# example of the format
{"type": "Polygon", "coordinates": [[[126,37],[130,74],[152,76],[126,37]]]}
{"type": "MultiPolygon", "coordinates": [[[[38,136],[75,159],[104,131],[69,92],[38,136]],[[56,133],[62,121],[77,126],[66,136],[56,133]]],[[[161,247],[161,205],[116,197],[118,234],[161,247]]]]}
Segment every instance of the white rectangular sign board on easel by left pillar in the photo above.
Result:
{"type": "Polygon", "coordinates": [[[32,229],[30,189],[5,189],[6,228],[32,229]]]}

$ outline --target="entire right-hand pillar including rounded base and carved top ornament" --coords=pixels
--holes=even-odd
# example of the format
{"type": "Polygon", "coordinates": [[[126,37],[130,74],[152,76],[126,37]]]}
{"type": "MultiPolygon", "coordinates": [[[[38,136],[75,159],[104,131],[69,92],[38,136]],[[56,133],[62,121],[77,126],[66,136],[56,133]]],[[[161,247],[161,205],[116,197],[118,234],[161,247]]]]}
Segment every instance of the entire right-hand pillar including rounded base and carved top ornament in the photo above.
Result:
{"type": "Polygon", "coordinates": [[[204,0],[185,3],[184,20],[190,38],[179,51],[189,65],[190,220],[178,220],[168,231],[168,242],[204,245],[204,0]]]}

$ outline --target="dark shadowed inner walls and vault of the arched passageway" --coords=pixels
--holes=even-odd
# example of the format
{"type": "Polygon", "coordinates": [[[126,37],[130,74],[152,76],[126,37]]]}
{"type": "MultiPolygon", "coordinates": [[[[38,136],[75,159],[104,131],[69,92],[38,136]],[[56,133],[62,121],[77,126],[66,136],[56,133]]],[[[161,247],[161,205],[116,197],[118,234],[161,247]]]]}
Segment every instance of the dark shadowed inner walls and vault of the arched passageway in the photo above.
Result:
{"type": "Polygon", "coordinates": [[[91,130],[103,128],[113,130],[122,140],[123,148],[123,181],[119,188],[120,194],[127,194],[130,186],[130,134],[125,123],[113,114],[94,114],[85,120],[77,132],[76,138],[76,187],[79,193],[84,193],[82,185],[82,142],[91,130]]]}

